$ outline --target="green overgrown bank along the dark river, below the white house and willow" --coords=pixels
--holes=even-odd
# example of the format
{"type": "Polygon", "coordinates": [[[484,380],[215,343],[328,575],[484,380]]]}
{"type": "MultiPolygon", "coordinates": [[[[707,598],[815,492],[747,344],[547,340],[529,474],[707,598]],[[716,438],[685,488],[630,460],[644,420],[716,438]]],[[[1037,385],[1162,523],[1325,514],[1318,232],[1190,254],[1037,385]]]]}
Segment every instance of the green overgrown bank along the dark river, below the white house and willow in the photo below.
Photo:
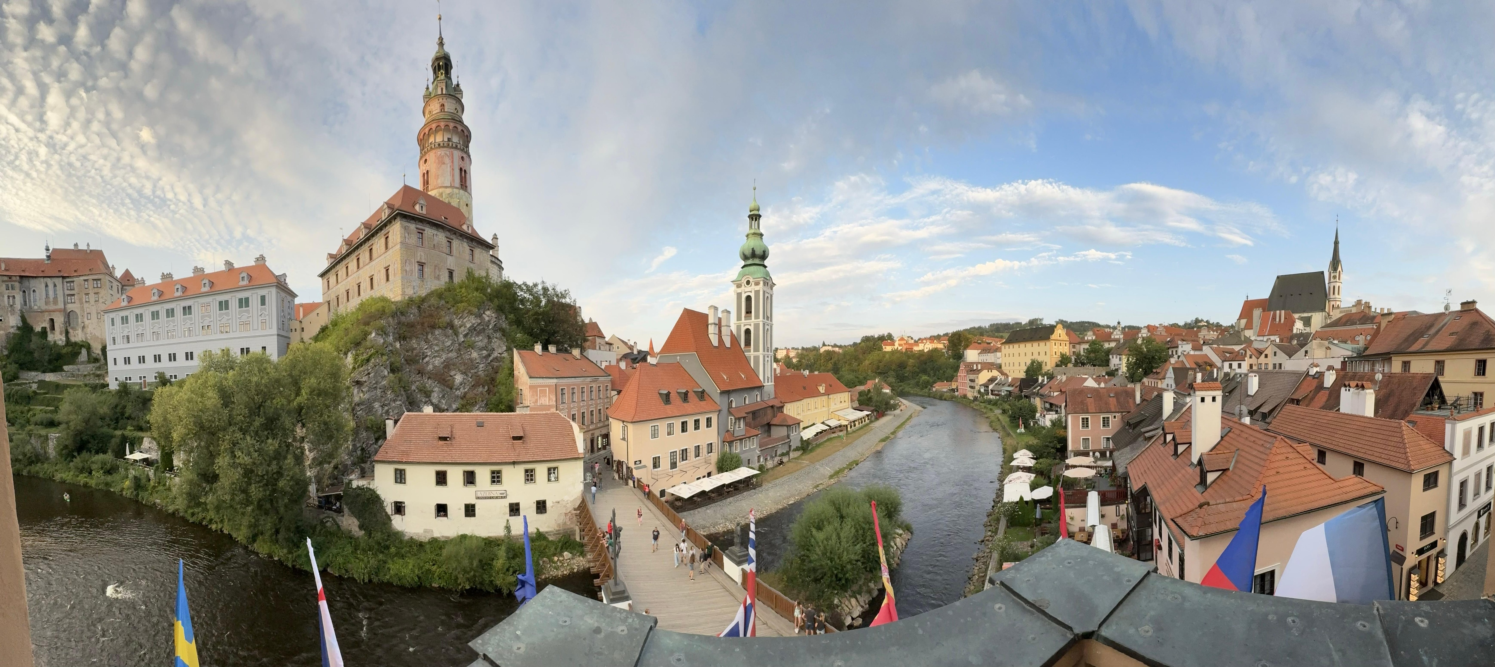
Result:
{"type": "MultiPolygon", "coordinates": [[[[223,531],[223,526],[205,520],[202,513],[179,507],[172,492],[173,480],[169,476],[157,474],[152,482],[147,470],[124,464],[109,455],[81,456],[72,461],[40,461],[34,455],[25,456],[22,449],[16,452],[22,452],[12,458],[16,474],[112,491],[223,531]]],[[[372,504],[378,514],[383,514],[383,501],[377,501],[377,495],[374,498],[374,502],[365,501],[362,504],[372,504]]],[[[381,522],[378,514],[371,514],[369,507],[360,507],[362,511],[356,511],[353,505],[359,502],[354,498],[348,498],[348,511],[354,513],[360,519],[360,525],[365,526],[363,535],[353,535],[333,525],[303,522],[300,526],[302,538],[293,544],[271,540],[256,543],[241,540],[241,543],[286,565],[309,570],[305,537],[311,537],[317,547],[318,564],[324,571],[365,583],[393,583],[407,588],[510,592],[514,589],[514,576],[523,571],[525,546],[519,538],[477,535],[457,535],[450,540],[407,538],[389,528],[387,514],[383,516],[381,522]]],[[[535,571],[541,576],[547,562],[565,559],[567,553],[585,555],[580,541],[571,537],[549,538],[538,531],[531,537],[531,552],[535,559],[535,571]]]]}

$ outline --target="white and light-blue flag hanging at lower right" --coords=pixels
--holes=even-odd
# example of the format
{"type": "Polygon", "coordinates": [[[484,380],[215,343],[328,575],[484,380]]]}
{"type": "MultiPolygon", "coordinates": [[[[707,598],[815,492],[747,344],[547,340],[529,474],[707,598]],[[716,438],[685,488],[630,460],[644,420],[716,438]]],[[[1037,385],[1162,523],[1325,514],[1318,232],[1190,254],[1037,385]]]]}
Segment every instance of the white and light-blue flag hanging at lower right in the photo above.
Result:
{"type": "Polygon", "coordinates": [[[1298,535],[1277,595],[1351,604],[1395,600],[1386,501],[1377,498],[1298,535]]]}

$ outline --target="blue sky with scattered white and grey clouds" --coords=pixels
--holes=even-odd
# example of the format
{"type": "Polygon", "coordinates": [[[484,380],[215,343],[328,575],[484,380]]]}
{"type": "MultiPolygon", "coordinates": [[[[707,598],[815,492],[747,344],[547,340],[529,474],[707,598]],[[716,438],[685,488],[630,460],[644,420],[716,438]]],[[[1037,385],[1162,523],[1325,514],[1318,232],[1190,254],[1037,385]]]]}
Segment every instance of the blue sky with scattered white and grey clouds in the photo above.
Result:
{"type": "MultiPolygon", "coordinates": [[[[776,342],[1495,299],[1495,6],[441,3],[510,278],[664,341],[762,206],[776,342]]],[[[435,1],[0,0],[0,256],[326,253],[414,178],[435,1]]]]}

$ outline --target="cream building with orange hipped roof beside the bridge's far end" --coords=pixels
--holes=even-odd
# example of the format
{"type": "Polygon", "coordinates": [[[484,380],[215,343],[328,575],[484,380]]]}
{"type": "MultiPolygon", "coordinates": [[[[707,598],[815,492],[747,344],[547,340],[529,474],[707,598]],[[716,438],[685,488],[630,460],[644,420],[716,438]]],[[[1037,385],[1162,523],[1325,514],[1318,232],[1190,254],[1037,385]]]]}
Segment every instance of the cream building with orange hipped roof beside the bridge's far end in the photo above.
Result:
{"type": "Polygon", "coordinates": [[[659,494],[716,473],[721,405],[674,362],[640,365],[608,410],[613,450],[635,485],[659,494]]]}

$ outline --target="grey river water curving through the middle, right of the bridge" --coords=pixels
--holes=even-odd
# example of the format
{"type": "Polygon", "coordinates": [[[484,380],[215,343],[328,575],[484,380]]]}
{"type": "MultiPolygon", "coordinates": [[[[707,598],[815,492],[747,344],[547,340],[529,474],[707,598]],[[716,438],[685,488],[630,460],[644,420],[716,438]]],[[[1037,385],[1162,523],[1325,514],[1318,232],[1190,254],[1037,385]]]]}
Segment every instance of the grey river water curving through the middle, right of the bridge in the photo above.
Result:
{"type": "MultiPolygon", "coordinates": [[[[960,600],[1002,470],[1002,440],[985,416],[954,401],[904,401],[924,411],[837,482],[852,488],[888,485],[903,495],[903,519],[913,525],[913,538],[893,571],[900,618],[960,600]]],[[[789,526],[816,495],[758,519],[761,570],[783,561],[789,526]]]]}

